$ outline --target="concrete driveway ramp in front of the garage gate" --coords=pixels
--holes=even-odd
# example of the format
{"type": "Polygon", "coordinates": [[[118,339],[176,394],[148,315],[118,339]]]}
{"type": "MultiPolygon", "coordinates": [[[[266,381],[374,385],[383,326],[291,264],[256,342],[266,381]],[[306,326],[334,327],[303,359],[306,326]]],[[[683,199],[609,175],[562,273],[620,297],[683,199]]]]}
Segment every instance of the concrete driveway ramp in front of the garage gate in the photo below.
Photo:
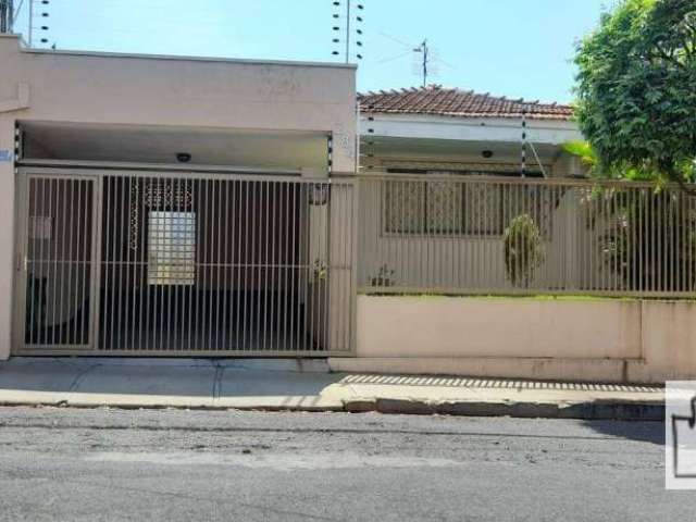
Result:
{"type": "Polygon", "coordinates": [[[0,403],[343,409],[324,360],[13,358],[0,403]]]}

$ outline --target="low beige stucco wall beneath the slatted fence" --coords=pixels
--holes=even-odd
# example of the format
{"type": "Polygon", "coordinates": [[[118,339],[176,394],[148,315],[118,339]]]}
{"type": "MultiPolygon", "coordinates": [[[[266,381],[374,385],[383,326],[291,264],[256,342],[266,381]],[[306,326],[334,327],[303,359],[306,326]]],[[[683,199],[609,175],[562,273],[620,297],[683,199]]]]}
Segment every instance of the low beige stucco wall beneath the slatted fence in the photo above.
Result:
{"type": "Polygon", "coordinates": [[[358,296],[337,371],[660,383],[696,377],[696,302],[358,296]]]}

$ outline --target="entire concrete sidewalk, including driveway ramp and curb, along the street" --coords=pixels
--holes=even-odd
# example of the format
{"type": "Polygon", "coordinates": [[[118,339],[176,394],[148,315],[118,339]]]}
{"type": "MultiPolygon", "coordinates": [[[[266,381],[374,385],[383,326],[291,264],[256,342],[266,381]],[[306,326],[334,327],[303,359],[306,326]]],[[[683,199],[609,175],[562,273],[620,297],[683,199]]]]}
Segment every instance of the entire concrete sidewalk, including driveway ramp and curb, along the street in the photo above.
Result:
{"type": "Polygon", "coordinates": [[[324,360],[14,358],[0,405],[663,420],[660,387],[328,373],[324,360]]]}

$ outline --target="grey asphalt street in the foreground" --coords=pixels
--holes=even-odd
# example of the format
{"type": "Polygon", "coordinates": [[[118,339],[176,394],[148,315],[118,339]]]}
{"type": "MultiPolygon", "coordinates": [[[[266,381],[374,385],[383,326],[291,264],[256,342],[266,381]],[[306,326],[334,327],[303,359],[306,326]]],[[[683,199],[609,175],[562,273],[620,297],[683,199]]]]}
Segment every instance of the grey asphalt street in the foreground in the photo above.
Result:
{"type": "Polygon", "coordinates": [[[693,521],[663,425],[0,408],[0,521],[693,521]]]}

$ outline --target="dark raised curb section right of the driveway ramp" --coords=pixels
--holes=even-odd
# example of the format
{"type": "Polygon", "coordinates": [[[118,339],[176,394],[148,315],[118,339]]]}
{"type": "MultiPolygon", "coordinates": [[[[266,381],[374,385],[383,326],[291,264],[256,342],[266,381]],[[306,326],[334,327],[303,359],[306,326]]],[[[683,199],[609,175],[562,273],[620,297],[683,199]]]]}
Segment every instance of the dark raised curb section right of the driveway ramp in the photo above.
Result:
{"type": "Polygon", "coordinates": [[[415,415],[512,417],[542,419],[663,421],[662,400],[596,399],[582,402],[427,401],[418,399],[357,398],[344,401],[350,413],[378,412],[415,415]]]}

